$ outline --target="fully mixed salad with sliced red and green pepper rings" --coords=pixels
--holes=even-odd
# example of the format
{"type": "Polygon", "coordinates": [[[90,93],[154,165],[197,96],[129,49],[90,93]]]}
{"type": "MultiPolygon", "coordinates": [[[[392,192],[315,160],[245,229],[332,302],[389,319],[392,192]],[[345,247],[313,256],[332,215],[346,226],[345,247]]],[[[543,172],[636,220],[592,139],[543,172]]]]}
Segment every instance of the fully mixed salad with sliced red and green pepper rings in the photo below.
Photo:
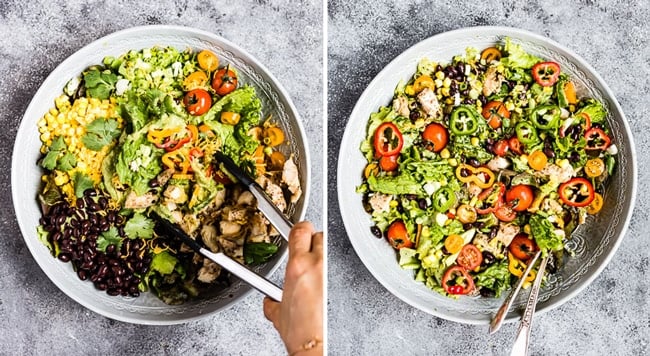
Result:
{"type": "Polygon", "coordinates": [[[560,267],[617,154],[602,103],[576,89],[508,38],[419,62],[361,143],[358,192],[402,268],[447,296],[498,297],[540,249],[560,267]]]}

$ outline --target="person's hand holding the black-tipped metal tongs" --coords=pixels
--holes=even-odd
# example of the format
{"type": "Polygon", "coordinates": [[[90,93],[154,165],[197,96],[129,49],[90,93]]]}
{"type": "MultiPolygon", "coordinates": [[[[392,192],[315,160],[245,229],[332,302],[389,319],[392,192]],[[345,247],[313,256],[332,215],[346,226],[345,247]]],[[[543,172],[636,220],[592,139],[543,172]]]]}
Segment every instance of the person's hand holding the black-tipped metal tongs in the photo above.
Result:
{"type": "Polygon", "coordinates": [[[323,354],[323,233],[309,222],[291,229],[282,301],[264,298],[264,315],[289,355],[323,354]]]}

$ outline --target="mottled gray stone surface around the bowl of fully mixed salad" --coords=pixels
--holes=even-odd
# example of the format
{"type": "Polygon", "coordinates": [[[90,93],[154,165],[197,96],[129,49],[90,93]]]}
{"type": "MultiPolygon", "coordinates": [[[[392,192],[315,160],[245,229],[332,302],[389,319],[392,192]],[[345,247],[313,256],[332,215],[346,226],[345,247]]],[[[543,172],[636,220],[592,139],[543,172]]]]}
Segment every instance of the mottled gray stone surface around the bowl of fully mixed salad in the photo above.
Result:
{"type": "MultiPolygon", "coordinates": [[[[618,252],[577,297],[535,319],[531,355],[650,354],[648,199],[650,124],[645,1],[329,1],[328,157],[372,78],[413,44],[448,30],[502,25],[571,48],[614,91],[634,132],[639,199],[618,252]]],[[[486,326],[442,320],[405,304],[363,266],[345,233],[328,171],[329,350],[332,355],[507,355],[516,324],[489,336],[486,326]]]]}

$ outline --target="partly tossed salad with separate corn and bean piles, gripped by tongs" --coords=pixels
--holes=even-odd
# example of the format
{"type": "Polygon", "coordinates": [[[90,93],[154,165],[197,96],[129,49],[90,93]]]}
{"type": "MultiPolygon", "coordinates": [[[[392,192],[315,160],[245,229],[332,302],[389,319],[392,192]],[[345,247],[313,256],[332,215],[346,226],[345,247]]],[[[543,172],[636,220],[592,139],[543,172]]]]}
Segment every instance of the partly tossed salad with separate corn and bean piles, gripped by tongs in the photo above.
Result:
{"type": "Polygon", "coordinates": [[[227,285],[214,262],[165,236],[179,224],[214,252],[260,264],[277,231],[213,156],[244,168],[287,211],[302,191],[283,130],[252,86],[209,50],[106,57],[71,80],[38,122],[41,241],[109,295],[152,291],[177,304],[227,285]]]}

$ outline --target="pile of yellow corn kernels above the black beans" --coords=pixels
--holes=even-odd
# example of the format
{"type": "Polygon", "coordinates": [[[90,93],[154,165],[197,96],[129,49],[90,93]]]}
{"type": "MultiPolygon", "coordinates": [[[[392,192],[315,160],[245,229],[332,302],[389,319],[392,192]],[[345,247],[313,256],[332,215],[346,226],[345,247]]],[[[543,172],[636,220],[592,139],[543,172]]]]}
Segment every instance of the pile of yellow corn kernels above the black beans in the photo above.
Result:
{"type": "MultiPolygon", "coordinates": [[[[85,126],[97,118],[117,118],[122,127],[122,118],[118,116],[115,100],[99,100],[95,98],[79,98],[70,104],[67,95],[61,95],[39,121],[38,131],[42,142],[41,153],[48,152],[48,147],[58,136],[63,137],[68,152],[77,159],[76,166],[69,172],[54,171],[54,182],[66,194],[68,200],[75,201],[74,187],[71,178],[75,172],[87,174],[95,184],[101,180],[101,165],[110,150],[109,146],[101,151],[86,148],[81,138],[86,134],[85,126]]],[[[46,179],[46,176],[43,176],[46,179]]]]}

